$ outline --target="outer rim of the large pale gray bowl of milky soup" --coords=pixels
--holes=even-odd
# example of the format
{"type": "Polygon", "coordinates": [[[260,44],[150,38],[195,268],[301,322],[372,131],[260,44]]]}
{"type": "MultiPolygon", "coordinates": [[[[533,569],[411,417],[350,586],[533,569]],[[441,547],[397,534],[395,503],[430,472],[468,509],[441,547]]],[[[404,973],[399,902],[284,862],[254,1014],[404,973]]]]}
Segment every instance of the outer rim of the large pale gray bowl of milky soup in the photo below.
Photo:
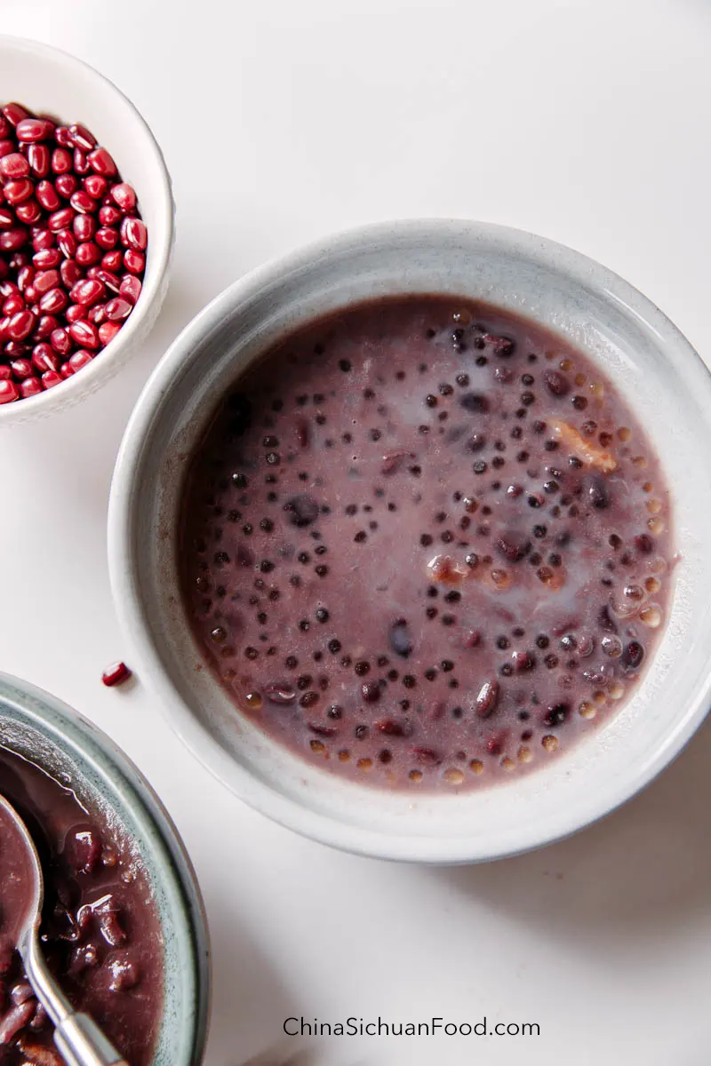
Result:
{"type": "Polygon", "coordinates": [[[161,358],[129,419],[116,459],[108,515],[110,581],[122,630],[143,676],[159,697],[161,713],[198,761],[251,807],[303,836],[353,854],[429,863],[490,861],[521,854],[565,839],[611,813],[645,788],[691,740],[711,706],[711,675],[685,713],[670,720],[668,733],[653,758],[636,768],[629,777],[616,779],[602,803],[599,800],[598,803],[588,802],[582,813],[578,810],[572,817],[562,811],[555,824],[550,822],[546,830],[536,836],[520,835],[521,839],[505,844],[494,842],[487,846],[486,854],[473,855],[474,849],[467,837],[434,839],[406,833],[386,835],[330,819],[277,793],[240,766],[194,717],[173,685],[153,647],[136,593],[135,576],[131,571],[138,517],[135,479],[147,447],[146,439],[161,417],[160,408],[166,394],[180,376],[183,360],[190,358],[205,336],[236,305],[308,268],[319,257],[348,255],[363,246],[373,248],[378,243],[397,242],[399,238],[411,241],[419,236],[423,240],[447,238],[452,241],[463,228],[470,238],[496,241],[513,255],[523,253],[542,266],[563,272],[591,292],[619,304],[649,326],[679,359],[696,365],[711,400],[711,371],[683,334],[631,284],[582,253],[548,238],[495,223],[439,217],[379,222],[339,231],[270,260],[232,282],[195,316],[161,358]]]}

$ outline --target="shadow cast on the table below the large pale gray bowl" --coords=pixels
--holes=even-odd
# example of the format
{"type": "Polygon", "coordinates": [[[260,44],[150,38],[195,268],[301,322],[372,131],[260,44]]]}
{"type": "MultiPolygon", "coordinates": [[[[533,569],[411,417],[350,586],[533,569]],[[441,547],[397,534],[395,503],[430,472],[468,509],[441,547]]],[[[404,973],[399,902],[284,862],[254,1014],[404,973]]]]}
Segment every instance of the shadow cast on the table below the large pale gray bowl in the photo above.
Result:
{"type": "Polygon", "coordinates": [[[486,866],[431,871],[548,938],[608,960],[651,950],[711,908],[711,721],[624,807],[567,840],[486,866]]]}

